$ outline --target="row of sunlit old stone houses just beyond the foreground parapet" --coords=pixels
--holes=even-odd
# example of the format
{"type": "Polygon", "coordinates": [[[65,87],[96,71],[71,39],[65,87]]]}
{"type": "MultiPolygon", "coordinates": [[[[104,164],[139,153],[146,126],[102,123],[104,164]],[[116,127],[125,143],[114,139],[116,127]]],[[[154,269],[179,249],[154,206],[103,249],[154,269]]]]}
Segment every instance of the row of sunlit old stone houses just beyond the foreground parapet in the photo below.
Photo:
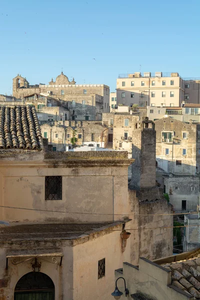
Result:
{"type": "Polygon", "coordinates": [[[80,145],[106,148],[108,143],[108,128],[96,121],[41,122],[41,133],[56,151],[80,145]]]}

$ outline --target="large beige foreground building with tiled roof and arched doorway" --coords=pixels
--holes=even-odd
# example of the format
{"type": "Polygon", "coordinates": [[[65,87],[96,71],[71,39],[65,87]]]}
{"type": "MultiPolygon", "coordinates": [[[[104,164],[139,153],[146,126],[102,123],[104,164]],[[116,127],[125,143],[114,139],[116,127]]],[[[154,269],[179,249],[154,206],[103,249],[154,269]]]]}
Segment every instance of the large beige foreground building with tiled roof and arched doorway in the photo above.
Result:
{"type": "Polygon", "coordinates": [[[34,107],[0,106],[0,297],[111,300],[114,267],[172,253],[171,206],[128,190],[125,151],[47,148],[34,107]]]}

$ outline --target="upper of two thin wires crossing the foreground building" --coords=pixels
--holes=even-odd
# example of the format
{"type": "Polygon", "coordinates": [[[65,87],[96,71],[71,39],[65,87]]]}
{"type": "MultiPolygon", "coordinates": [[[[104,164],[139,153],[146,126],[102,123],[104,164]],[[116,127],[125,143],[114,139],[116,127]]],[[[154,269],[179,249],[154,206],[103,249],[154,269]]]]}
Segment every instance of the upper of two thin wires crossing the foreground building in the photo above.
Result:
{"type": "Polygon", "coordinates": [[[26,207],[16,207],[16,206],[6,206],[0,205],[2,208],[13,208],[13,209],[24,209],[24,210],[34,210],[34,211],[46,211],[46,212],[59,212],[59,213],[74,213],[74,214],[94,214],[94,215],[125,215],[125,216],[149,216],[149,215],[181,215],[181,214],[197,214],[198,211],[192,212],[177,212],[177,213],[151,213],[151,214],[131,214],[131,213],[100,213],[100,212],[75,212],[75,211],[62,211],[62,210],[48,210],[48,209],[36,209],[36,208],[26,208],[26,207]]]}

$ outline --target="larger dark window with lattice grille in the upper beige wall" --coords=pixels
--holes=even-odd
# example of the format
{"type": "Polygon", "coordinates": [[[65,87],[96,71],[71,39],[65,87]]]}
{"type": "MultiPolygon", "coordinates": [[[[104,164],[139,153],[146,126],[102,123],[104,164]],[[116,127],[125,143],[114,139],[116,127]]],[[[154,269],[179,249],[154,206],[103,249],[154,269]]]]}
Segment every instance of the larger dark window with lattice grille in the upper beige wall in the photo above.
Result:
{"type": "Polygon", "coordinates": [[[62,199],[62,176],[45,176],[45,200],[62,199]]]}

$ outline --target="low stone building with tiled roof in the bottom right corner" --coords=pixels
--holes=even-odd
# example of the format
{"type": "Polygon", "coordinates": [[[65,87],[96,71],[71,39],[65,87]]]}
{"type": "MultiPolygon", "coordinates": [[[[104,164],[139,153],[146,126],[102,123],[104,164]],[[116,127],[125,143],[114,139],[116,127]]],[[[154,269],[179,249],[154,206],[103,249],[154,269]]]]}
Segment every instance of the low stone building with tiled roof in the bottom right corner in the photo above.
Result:
{"type": "MultiPolygon", "coordinates": [[[[115,270],[115,279],[123,276],[131,299],[197,300],[200,298],[199,252],[196,248],[156,260],[140,257],[137,265],[123,262],[123,268],[115,270]]],[[[117,287],[123,292],[121,299],[127,299],[123,280],[117,281],[117,287]]]]}

